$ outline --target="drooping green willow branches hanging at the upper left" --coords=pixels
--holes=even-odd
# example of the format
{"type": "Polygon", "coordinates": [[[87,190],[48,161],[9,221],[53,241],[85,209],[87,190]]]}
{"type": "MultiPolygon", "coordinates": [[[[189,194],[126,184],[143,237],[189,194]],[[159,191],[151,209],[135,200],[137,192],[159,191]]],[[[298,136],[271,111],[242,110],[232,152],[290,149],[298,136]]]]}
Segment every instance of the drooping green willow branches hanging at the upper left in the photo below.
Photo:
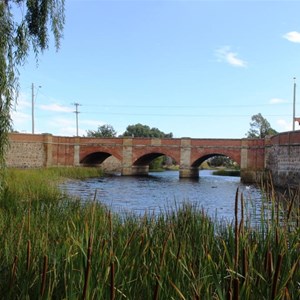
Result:
{"type": "Polygon", "coordinates": [[[64,0],[0,0],[0,168],[18,95],[18,68],[29,53],[38,59],[48,48],[50,35],[59,48],[64,21],[64,0]]]}

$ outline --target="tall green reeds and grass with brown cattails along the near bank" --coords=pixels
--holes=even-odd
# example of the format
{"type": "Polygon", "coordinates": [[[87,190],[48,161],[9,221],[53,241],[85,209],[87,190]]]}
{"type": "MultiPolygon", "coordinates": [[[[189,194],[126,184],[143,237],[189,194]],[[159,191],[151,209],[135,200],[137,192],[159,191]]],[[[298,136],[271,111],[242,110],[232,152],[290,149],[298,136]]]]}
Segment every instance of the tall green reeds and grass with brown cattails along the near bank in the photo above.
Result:
{"type": "Polygon", "coordinates": [[[297,193],[279,203],[266,188],[255,225],[251,201],[239,192],[232,223],[189,204],[121,218],[93,199],[82,204],[61,194],[55,182],[71,176],[62,169],[7,176],[0,196],[4,299],[299,299],[297,193]]]}

